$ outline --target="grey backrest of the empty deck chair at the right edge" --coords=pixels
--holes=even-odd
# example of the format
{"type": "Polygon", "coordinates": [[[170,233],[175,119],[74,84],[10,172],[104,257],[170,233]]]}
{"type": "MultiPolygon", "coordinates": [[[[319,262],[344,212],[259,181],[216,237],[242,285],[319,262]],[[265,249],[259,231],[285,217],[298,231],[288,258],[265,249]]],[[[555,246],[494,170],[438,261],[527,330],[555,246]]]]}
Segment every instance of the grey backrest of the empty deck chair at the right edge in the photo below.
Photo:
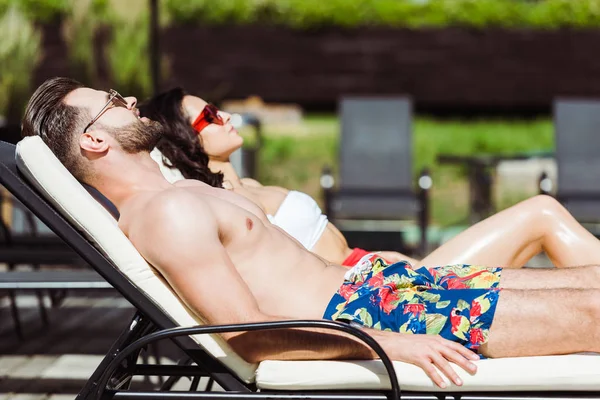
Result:
{"type": "Polygon", "coordinates": [[[600,234],[600,100],[554,101],[558,165],[557,199],[596,235],[600,234]]]}

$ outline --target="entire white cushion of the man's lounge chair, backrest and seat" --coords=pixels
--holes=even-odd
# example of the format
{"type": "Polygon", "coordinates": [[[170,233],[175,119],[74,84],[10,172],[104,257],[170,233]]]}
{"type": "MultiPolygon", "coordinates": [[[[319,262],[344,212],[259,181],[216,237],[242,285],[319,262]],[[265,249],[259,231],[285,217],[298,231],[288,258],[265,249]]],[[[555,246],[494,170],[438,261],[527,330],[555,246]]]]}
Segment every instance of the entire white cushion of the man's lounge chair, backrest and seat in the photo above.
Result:
{"type": "MultiPolygon", "coordinates": [[[[142,258],[118,228],[114,218],[63,167],[39,137],[17,145],[21,172],[73,222],[120,271],[144,291],[181,326],[202,323],[181,303],[168,284],[142,258]]],[[[246,363],[218,336],[195,340],[234,371],[261,389],[382,389],[389,388],[380,361],[263,361],[258,370],[246,363]]],[[[505,358],[478,361],[479,371],[470,376],[458,367],[462,388],[453,390],[600,390],[600,357],[568,355],[505,358]]],[[[437,391],[418,367],[394,362],[404,390],[437,391]]]]}

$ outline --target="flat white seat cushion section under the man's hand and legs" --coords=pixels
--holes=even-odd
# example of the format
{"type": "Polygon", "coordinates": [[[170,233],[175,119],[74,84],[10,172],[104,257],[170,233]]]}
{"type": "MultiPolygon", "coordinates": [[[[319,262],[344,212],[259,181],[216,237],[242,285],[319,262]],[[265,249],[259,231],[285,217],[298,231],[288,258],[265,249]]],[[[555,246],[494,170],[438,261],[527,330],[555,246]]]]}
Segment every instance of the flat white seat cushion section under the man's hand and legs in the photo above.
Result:
{"type": "MultiPolygon", "coordinates": [[[[394,369],[402,390],[411,391],[600,390],[597,355],[496,358],[475,363],[478,367],[475,375],[454,366],[464,385],[451,385],[445,390],[435,386],[417,366],[395,361],[394,369]]],[[[383,363],[377,360],[263,361],[258,367],[256,384],[270,390],[391,387],[383,363]]]]}

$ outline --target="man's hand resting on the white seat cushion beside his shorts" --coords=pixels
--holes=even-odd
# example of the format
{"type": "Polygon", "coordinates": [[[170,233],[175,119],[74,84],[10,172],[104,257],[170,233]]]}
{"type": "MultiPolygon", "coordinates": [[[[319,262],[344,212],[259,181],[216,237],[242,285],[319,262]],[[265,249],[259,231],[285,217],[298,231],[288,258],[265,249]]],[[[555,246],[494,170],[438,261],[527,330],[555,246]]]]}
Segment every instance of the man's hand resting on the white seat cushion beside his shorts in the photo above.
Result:
{"type": "Polygon", "coordinates": [[[470,374],[477,372],[477,366],[470,360],[478,360],[479,356],[460,344],[441,336],[391,332],[374,333],[372,330],[369,330],[369,334],[373,335],[392,360],[404,361],[421,367],[427,376],[442,389],[445,389],[447,385],[436,367],[458,386],[462,385],[462,380],[452,369],[450,361],[470,374]]]}

